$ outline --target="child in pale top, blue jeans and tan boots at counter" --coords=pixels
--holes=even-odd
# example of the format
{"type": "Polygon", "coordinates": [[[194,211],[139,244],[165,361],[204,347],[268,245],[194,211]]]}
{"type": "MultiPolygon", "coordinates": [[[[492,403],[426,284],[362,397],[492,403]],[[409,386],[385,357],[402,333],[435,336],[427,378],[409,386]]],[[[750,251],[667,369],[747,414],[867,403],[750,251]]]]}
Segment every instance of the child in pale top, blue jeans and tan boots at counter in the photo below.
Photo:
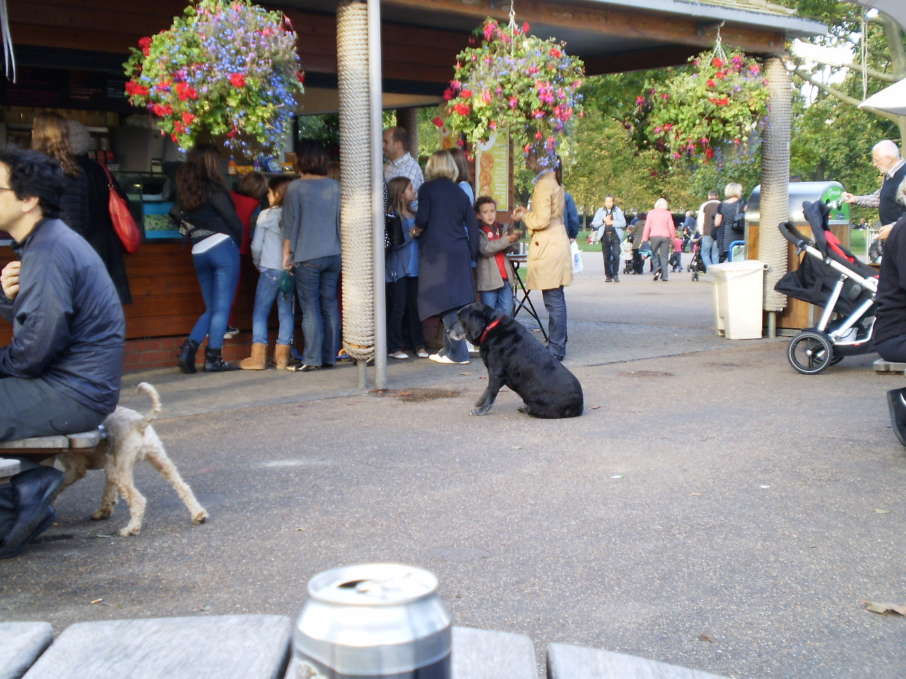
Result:
{"type": "Polygon", "coordinates": [[[267,201],[270,207],[262,210],[255,224],[252,238],[252,261],[260,276],[255,291],[255,311],[252,312],[252,355],[239,362],[243,370],[264,370],[267,358],[267,317],[277,300],[277,317],[280,330],[274,350],[274,365],[280,370],[289,365],[293,347],[294,293],[280,292],[283,268],[283,231],[280,216],[290,177],[271,177],[267,184],[267,201]]]}

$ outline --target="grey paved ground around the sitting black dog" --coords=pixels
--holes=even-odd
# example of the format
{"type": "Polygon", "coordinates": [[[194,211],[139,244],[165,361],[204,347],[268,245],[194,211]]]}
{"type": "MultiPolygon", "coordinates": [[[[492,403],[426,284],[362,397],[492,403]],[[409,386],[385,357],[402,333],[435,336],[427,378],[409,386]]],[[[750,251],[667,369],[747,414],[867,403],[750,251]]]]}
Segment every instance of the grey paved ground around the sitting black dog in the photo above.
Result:
{"type": "MultiPolygon", "coordinates": [[[[906,675],[906,451],[872,358],[798,375],[784,340],[713,334],[710,284],[569,288],[567,365],[588,409],[468,416],[484,368],[412,359],[395,396],[352,367],[313,375],[130,374],[161,393],[159,435],[211,520],[137,471],[144,530],[87,520],[102,479],[60,524],[0,561],[0,619],[296,615],[314,573],[370,560],[433,570],[463,626],[596,646],[734,677],[906,675]],[[92,605],[92,600],[103,600],[92,605]]],[[[124,402],[147,407],[124,392],[124,402]]],[[[539,663],[539,668],[540,668],[539,663]]]]}

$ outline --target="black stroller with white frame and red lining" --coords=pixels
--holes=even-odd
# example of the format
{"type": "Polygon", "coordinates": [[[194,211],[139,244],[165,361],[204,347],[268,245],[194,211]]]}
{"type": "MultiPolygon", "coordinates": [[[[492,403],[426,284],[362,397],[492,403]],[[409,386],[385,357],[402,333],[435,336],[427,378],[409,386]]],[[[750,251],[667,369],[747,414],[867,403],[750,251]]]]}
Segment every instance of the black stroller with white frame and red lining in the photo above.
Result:
{"type": "Polygon", "coordinates": [[[817,375],[846,356],[874,351],[874,302],[878,274],[857,260],[827,227],[830,208],[824,203],[803,203],[805,219],[812,226],[814,240],[785,222],[780,233],[805,253],[799,268],[781,278],[777,292],[824,308],[814,328],[806,328],[790,340],[786,358],[804,375],[817,375]]]}

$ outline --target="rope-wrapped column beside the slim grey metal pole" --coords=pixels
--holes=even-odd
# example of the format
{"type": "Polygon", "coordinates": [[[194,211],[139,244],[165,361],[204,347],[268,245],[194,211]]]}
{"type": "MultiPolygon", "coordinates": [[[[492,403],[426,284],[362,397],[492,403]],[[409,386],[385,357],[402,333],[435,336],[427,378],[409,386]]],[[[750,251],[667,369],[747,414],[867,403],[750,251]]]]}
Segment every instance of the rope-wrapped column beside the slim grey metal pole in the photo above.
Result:
{"type": "MultiPolygon", "coordinates": [[[[368,90],[368,5],[337,9],[342,186],[342,343],[353,359],[374,355],[371,238],[371,124],[368,90]]],[[[378,130],[380,135],[380,130],[378,130]]]]}

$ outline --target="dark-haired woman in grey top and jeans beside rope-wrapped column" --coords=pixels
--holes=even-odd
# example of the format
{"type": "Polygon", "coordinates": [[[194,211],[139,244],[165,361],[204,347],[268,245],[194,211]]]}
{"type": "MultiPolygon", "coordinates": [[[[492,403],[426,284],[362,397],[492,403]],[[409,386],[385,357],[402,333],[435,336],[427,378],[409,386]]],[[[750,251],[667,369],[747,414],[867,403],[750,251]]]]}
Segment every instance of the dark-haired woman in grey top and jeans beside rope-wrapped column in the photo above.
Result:
{"type": "Polygon", "coordinates": [[[284,269],[295,276],[302,311],[305,350],[302,365],[311,372],[333,368],[340,349],[340,182],[327,177],[327,150],[315,139],[295,148],[300,177],[286,187],[280,225],[284,269]]]}

